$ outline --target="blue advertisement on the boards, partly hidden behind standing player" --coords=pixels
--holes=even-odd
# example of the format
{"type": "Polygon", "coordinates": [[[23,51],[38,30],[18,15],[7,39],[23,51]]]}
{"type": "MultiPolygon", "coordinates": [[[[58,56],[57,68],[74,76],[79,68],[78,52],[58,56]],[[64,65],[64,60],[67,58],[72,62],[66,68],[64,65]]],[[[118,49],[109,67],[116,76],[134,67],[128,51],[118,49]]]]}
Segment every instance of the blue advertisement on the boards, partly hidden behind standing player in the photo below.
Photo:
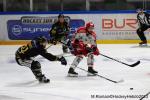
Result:
{"type": "MultiPolygon", "coordinates": [[[[70,17],[65,16],[65,20],[70,25],[70,34],[73,34],[77,28],[85,25],[85,21],[82,19],[71,19],[70,17]]],[[[37,36],[50,38],[49,31],[52,24],[56,21],[56,16],[23,16],[19,20],[8,20],[8,37],[10,40],[31,40],[37,36]]]]}

